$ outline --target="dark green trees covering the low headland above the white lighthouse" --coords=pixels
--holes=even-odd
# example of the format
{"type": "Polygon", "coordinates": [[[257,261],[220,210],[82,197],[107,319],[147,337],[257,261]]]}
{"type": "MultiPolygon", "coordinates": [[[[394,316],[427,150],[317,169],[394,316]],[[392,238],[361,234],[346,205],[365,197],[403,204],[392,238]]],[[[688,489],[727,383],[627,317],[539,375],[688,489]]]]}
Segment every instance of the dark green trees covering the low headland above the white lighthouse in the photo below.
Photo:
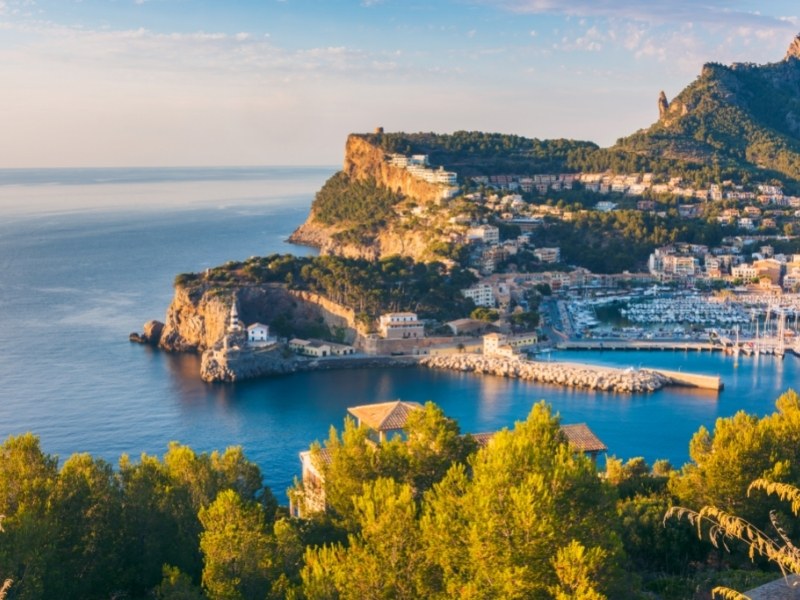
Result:
{"type": "Polygon", "coordinates": [[[474,306],[459,291],[475,282],[469,271],[399,256],[368,261],[272,254],[210,269],[197,281],[200,288],[285,283],[347,306],[366,320],[385,312],[413,311],[422,318],[447,321],[474,306]]]}

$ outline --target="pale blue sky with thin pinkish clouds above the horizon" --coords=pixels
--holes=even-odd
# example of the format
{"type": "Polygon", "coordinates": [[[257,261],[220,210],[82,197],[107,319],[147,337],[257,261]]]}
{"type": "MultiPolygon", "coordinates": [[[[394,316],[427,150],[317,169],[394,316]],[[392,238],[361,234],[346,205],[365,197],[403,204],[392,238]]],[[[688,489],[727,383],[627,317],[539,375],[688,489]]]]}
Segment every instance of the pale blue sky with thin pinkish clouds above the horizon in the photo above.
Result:
{"type": "Polygon", "coordinates": [[[0,168],[336,165],[348,133],[609,146],[796,0],[0,0],[0,168]]]}

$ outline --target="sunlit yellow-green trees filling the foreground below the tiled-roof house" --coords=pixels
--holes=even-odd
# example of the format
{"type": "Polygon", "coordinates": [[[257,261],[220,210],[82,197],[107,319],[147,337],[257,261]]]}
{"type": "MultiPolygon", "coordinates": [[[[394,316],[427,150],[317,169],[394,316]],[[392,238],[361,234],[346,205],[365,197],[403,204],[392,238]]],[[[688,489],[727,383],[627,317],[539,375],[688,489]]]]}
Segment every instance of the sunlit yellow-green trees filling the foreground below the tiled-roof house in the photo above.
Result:
{"type": "Polygon", "coordinates": [[[306,519],[276,506],[238,448],[173,443],[112,468],[87,454],[59,465],[33,435],[10,437],[0,573],[9,599],[699,600],[778,576],[751,563],[748,545],[798,570],[787,542],[800,533],[800,398],[776,405],[701,428],[680,470],[610,458],[604,477],[544,403],[484,447],[430,403],[404,438],[378,445],[348,419],[325,443],[328,510],[306,519]],[[761,490],[791,511],[771,514],[761,490]],[[731,552],[665,520],[675,505],[713,520],[731,552]],[[781,532],[768,539],[772,522],[781,532]]]}

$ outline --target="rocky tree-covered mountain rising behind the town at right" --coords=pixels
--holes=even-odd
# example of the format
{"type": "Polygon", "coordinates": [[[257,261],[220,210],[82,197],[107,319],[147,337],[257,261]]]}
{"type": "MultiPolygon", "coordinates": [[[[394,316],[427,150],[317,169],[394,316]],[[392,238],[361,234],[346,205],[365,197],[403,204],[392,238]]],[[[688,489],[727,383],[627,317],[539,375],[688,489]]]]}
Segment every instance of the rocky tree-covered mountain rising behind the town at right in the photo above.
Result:
{"type": "Polygon", "coordinates": [[[780,62],[704,65],[671,102],[661,92],[658,108],[651,127],[601,152],[800,181],[800,36],[780,62]]]}

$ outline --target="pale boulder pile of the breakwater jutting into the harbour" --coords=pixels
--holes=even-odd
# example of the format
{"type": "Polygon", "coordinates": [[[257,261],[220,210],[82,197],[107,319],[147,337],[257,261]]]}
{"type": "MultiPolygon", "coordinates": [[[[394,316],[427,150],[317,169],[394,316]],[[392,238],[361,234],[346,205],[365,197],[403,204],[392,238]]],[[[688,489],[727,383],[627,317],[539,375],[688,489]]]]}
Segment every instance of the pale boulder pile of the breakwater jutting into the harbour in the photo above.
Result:
{"type": "Polygon", "coordinates": [[[672,383],[669,377],[646,369],[633,371],[574,363],[534,362],[515,358],[488,357],[477,354],[428,356],[421,359],[419,364],[431,369],[497,375],[606,392],[654,392],[672,383]]]}

